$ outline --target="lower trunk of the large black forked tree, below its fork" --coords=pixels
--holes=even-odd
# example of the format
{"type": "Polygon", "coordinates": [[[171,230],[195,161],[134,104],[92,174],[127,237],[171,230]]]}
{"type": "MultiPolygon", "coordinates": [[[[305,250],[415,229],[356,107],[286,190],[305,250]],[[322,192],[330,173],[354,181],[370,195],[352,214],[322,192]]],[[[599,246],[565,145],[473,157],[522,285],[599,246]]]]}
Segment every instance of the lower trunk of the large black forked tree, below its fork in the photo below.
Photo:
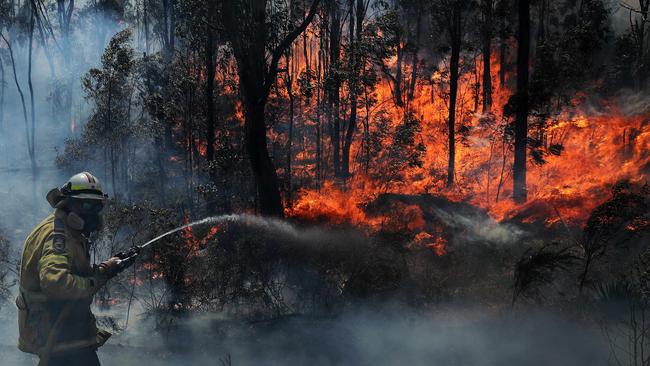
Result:
{"type": "Polygon", "coordinates": [[[246,149],[257,183],[260,211],[265,216],[282,216],[278,176],[266,146],[264,103],[246,101],[246,149]]]}

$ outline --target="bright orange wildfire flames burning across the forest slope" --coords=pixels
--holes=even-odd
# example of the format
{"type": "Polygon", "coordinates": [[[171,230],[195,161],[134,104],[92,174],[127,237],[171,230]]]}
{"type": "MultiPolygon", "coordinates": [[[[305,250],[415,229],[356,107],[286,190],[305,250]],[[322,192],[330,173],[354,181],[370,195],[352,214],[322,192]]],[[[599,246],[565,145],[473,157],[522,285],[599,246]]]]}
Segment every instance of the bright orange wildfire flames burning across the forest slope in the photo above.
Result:
{"type": "MultiPolygon", "coordinates": [[[[445,76],[437,72],[430,83],[418,85],[408,107],[422,127],[416,136],[426,147],[421,165],[403,164],[395,169],[385,163],[389,160],[387,147],[394,142],[392,134],[386,134],[381,141],[383,152],[373,160],[368,172],[358,163],[353,168],[353,176],[346,181],[329,179],[319,188],[300,190],[286,214],[377,229],[384,227],[391,217],[369,216],[364,211],[366,203],[387,192],[430,193],[484,208],[498,221],[516,217],[522,222],[543,222],[550,226],[557,224],[558,215],[561,215],[566,222],[581,225],[591,210],[607,199],[609,187],[616,181],[648,178],[650,112],[626,114],[621,102],[612,99],[602,103],[600,112],[594,113],[590,108],[582,108],[585,98],[578,95],[572,105],[549,119],[543,136],[536,136],[531,129],[531,137],[540,143],[540,146],[531,146],[538,151],[539,159],[529,158],[527,164],[528,202],[514,204],[511,199],[512,142],[505,139],[504,128],[508,121],[501,117],[512,91],[498,82],[500,65],[496,56],[492,58],[492,65],[490,113],[477,111],[480,106],[475,93],[476,77],[465,73],[460,79],[457,125],[468,133],[457,132],[460,136],[456,141],[456,183],[452,189],[445,187],[448,155],[445,93],[449,86],[445,76]]],[[[408,66],[405,67],[404,74],[410,74],[408,66]]],[[[405,118],[405,108],[390,102],[393,95],[387,82],[380,83],[373,92],[378,104],[390,116],[388,130],[394,131],[405,118]]],[[[369,117],[373,118],[372,113],[376,112],[363,110],[359,113],[362,120],[367,117],[365,113],[371,113],[369,117]]],[[[369,132],[374,133],[382,127],[371,124],[369,128],[369,132]]],[[[364,143],[359,132],[350,156],[363,156],[364,143]]],[[[330,147],[325,144],[324,148],[330,147]]],[[[327,151],[324,155],[326,159],[331,158],[327,151]]],[[[301,161],[297,159],[294,165],[301,161]]],[[[294,166],[294,169],[301,168],[294,166]]],[[[302,169],[313,170],[312,167],[302,169]]],[[[418,226],[416,222],[413,225],[418,226]]],[[[438,253],[444,253],[444,239],[440,239],[433,240],[430,245],[438,253]]]]}

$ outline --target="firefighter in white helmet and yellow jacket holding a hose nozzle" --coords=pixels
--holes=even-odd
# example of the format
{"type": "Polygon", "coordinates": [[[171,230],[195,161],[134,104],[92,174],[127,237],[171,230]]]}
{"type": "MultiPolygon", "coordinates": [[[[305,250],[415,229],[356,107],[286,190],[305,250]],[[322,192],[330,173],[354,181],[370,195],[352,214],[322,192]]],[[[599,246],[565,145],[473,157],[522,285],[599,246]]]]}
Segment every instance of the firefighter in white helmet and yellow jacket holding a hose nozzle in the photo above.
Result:
{"type": "Polygon", "coordinates": [[[99,365],[97,348],[110,333],[98,329],[93,296],[133,263],[112,257],[92,266],[88,238],[101,227],[107,195],[88,172],[47,194],[54,212],[25,241],[20,266],[18,348],[39,366],[99,365]]]}

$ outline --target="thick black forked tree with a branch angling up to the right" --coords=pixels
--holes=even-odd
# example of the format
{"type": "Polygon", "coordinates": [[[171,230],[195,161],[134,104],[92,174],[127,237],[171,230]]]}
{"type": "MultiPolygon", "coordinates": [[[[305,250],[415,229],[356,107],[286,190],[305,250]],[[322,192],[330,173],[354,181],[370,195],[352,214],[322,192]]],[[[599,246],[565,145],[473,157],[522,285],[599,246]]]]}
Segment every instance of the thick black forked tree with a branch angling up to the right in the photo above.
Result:
{"type": "Polygon", "coordinates": [[[239,89],[244,104],[246,149],[263,215],[284,214],[278,176],[267,147],[264,110],[271,87],[276,83],[280,58],[311,23],[319,2],[313,0],[307,16],[298,25],[290,26],[276,45],[269,44],[266,1],[224,1],[221,4],[223,24],[227,29],[225,37],[237,61],[239,89]]]}

